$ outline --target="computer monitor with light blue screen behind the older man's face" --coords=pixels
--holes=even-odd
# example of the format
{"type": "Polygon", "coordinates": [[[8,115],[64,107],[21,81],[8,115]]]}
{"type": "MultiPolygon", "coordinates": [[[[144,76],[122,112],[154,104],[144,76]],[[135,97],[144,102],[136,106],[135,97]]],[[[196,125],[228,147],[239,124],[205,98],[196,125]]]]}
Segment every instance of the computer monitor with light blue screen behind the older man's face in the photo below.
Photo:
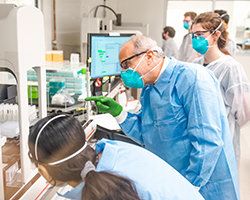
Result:
{"type": "Polygon", "coordinates": [[[129,41],[132,35],[119,33],[88,34],[88,58],[91,58],[91,78],[113,76],[121,73],[119,52],[122,44],[129,41]]]}

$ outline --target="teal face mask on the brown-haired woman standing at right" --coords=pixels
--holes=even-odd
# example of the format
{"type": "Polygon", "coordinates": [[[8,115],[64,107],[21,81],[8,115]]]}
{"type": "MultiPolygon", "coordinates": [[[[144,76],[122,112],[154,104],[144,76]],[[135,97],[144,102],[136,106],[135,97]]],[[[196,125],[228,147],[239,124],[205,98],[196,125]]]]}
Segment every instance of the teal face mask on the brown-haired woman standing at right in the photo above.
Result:
{"type": "MultiPolygon", "coordinates": [[[[209,46],[208,43],[208,38],[213,35],[222,25],[222,22],[220,23],[220,25],[206,38],[202,37],[202,36],[196,36],[195,33],[191,33],[192,36],[192,45],[193,45],[193,49],[195,51],[197,51],[199,54],[204,55],[209,47],[213,47],[213,46],[209,46]]],[[[206,33],[208,31],[197,31],[197,32],[202,32],[202,33],[206,33]]]]}

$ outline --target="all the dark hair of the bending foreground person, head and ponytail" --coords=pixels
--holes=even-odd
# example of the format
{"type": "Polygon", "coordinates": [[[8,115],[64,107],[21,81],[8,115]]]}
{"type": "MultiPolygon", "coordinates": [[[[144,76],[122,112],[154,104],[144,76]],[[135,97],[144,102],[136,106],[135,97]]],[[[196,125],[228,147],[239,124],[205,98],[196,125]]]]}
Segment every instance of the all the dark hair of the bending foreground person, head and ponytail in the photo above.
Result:
{"type": "MultiPolygon", "coordinates": [[[[58,114],[53,114],[39,120],[32,127],[28,139],[29,157],[31,161],[36,165],[43,165],[52,177],[55,185],[57,180],[65,183],[82,181],[81,172],[85,163],[91,161],[96,166],[98,162],[95,150],[87,146],[82,152],[71,159],[60,164],[49,165],[49,163],[59,161],[74,154],[81,149],[86,142],[85,133],[80,122],[74,117],[64,114],[60,115],[61,116],[58,117],[58,114]],[[54,120],[48,123],[52,118],[54,118],[54,120]],[[46,123],[48,124],[44,127],[46,123]],[[38,133],[43,127],[44,129],[40,133],[40,136],[38,136],[38,133]],[[37,136],[39,138],[37,142],[36,159],[35,142],[37,136]]],[[[95,191],[98,191],[97,194],[94,194],[97,197],[99,194],[105,196],[104,194],[106,193],[121,195],[123,193],[121,192],[122,190],[127,191],[129,193],[128,196],[131,195],[129,197],[136,197],[137,195],[132,181],[129,179],[106,172],[95,171],[90,171],[85,177],[85,186],[83,188],[84,197],[85,194],[92,194],[95,191]]],[[[130,199],[139,200],[139,197],[130,199]]]]}

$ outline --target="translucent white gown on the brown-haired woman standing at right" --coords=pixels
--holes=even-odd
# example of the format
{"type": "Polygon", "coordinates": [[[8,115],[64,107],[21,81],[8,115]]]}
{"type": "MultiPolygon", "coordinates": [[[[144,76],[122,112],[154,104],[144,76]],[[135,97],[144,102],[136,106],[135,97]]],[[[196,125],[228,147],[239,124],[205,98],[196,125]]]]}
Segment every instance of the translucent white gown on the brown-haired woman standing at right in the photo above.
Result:
{"type": "MultiPolygon", "coordinates": [[[[193,62],[204,65],[204,57],[193,62]]],[[[240,129],[250,122],[250,83],[244,68],[232,56],[224,55],[209,63],[206,68],[214,73],[220,84],[239,169],[240,129]]]]}

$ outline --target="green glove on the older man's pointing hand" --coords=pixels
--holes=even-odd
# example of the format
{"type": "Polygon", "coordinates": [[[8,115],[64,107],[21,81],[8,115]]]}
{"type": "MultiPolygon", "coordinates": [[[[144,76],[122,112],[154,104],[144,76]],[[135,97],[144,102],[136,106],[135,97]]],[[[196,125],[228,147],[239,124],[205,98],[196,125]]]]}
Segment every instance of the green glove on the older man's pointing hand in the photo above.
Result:
{"type": "Polygon", "coordinates": [[[85,101],[96,101],[98,111],[100,113],[110,113],[113,117],[120,115],[122,106],[114,99],[104,96],[87,97],[85,101]]]}

